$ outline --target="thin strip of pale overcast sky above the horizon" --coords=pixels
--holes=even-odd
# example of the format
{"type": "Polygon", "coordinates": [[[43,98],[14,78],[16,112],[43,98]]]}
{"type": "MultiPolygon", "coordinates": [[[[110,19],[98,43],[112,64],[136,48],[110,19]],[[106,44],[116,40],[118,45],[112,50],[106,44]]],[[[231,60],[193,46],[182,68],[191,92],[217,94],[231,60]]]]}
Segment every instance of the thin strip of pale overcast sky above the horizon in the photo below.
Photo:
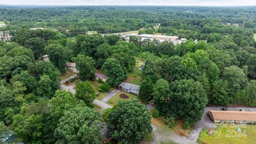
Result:
{"type": "Polygon", "coordinates": [[[0,0],[5,5],[256,6],[256,0],[0,0]]]}

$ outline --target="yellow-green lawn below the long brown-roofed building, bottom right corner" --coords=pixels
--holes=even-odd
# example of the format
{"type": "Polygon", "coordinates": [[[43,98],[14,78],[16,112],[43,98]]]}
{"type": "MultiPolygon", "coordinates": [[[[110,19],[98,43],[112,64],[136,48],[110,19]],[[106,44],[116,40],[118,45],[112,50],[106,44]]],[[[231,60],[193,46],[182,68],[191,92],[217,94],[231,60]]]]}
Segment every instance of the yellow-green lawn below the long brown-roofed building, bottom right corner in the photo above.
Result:
{"type": "Polygon", "coordinates": [[[208,130],[204,130],[200,135],[198,142],[200,143],[226,143],[226,144],[252,144],[256,142],[256,126],[255,125],[221,125],[217,124],[217,129],[213,130],[214,134],[208,134],[208,130]],[[238,132],[238,128],[242,132],[238,132]]]}

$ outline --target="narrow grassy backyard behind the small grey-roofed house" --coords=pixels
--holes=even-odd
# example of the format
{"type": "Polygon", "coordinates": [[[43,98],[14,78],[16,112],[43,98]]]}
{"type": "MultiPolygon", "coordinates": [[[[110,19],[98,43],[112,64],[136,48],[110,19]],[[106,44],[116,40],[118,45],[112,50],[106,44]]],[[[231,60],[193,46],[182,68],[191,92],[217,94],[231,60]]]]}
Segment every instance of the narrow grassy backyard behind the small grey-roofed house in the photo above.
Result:
{"type": "Polygon", "coordinates": [[[134,66],[133,72],[127,74],[127,79],[125,80],[126,83],[131,83],[135,85],[140,85],[142,82],[142,77],[141,77],[141,70],[139,70],[140,65],[145,65],[145,61],[143,61],[140,58],[136,58],[136,64],[134,66]]]}

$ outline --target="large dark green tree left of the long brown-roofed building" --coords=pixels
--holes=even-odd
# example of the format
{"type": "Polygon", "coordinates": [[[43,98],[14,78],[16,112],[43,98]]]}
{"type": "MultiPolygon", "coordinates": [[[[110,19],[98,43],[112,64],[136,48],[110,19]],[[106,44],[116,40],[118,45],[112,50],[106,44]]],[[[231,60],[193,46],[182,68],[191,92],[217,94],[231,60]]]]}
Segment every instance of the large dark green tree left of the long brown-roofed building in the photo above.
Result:
{"type": "Polygon", "coordinates": [[[201,119],[208,102],[201,83],[193,79],[175,81],[170,84],[170,91],[170,102],[166,101],[163,111],[190,122],[201,119]],[[178,113],[172,114],[171,111],[178,113]]]}

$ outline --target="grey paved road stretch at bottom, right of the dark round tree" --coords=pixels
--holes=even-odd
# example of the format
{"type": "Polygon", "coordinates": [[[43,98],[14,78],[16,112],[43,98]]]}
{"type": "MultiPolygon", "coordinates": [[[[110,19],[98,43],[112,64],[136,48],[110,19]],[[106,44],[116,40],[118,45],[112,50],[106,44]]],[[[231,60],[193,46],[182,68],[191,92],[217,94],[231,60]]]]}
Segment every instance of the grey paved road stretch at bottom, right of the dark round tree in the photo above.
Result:
{"type": "Polygon", "coordinates": [[[152,134],[154,136],[153,140],[151,142],[141,141],[140,142],[141,144],[169,143],[170,141],[174,141],[175,143],[180,143],[180,144],[196,144],[196,142],[191,141],[187,138],[181,137],[180,135],[175,134],[166,128],[158,127],[154,124],[151,124],[151,126],[153,127],[153,131],[152,131],[152,134]]]}

